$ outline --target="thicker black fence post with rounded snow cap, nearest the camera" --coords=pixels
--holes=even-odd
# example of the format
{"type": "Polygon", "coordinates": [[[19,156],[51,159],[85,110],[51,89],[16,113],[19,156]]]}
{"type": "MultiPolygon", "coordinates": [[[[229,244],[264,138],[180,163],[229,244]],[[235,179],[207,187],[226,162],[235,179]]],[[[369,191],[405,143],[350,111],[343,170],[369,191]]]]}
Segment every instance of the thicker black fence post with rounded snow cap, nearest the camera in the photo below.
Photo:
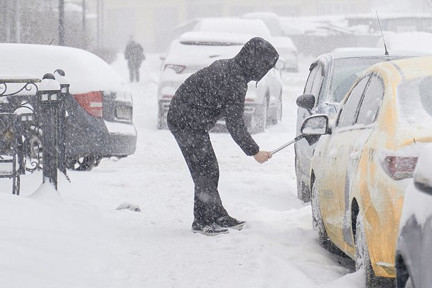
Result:
{"type": "Polygon", "coordinates": [[[43,182],[49,181],[57,190],[58,125],[60,106],[60,84],[53,74],[43,76],[38,90],[38,104],[42,116],[43,133],[43,182]]]}

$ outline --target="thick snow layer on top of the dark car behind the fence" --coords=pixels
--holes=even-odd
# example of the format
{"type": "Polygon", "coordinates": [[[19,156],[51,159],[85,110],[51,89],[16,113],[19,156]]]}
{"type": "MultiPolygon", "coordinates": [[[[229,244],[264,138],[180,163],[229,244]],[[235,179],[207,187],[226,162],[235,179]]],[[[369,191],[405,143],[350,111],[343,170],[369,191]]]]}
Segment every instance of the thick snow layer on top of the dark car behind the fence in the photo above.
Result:
{"type": "Polygon", "coordinates": [[[88,51],[72,47],[31,44],[0,44],[0,74],[31,74],[64,70],[71,93],[97,90],[129,91],[127,83],[105,61],[88,51]]]}

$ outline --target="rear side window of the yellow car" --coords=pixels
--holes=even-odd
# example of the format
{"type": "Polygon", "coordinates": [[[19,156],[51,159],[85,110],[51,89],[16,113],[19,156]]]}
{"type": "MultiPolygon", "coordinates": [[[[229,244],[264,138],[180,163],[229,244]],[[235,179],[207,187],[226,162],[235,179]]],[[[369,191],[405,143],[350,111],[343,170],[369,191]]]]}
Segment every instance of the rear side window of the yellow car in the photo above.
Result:
{"type": "Polygon", "coordinates": [[[372,124],[375,122],[376,114],[380,108],[381,100],[384,95],[383,80],[374,75],[366,88],[362,104],[357,116],[357,124],[372,124]]]}

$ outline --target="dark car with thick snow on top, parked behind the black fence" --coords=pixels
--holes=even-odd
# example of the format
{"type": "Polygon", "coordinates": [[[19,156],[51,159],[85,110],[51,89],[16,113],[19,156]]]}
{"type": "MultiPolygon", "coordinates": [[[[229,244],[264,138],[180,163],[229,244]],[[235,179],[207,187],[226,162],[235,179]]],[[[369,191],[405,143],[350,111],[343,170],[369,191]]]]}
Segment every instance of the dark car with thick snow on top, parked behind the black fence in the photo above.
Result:
{"type": "MultiPolygon", "coordinates": [[[[58,69],[65,72],[70,83],[70,97],[64,100],[68,168],[89,170],[102,158],[134,153],[137,131],[132,122],[132,94],[101,58],[71,47],[6,43],[0,44],[0,55],[0,74],[31,74],[42,79],[58,69]]],[[[6,98],[2,101],[14,101],[6,98]]]]}

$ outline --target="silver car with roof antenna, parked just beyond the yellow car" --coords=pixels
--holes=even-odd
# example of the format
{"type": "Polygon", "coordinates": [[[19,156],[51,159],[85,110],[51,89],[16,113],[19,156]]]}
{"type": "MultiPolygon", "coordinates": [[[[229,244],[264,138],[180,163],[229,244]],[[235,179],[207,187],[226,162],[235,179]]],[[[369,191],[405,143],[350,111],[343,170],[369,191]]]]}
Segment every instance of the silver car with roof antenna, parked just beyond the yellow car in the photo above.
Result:
{"type": "MultiPolygon", "coordinates": [[[[300,134],[303,120],[309,115],[323,113],[334,120],[339,103],[362,70],[378,62],[424,55],[426,54],[414,51],[390,51],[389,55],[385,55],[382,49],[350,49],[318,56],[309,68],[303,95],[297,99],[297,135],[300,134]]],[[[305,139],[295,143],[297,193],[303,202],[310,200],[313,154],[314,145],[309,145],[305,139]]]]}

